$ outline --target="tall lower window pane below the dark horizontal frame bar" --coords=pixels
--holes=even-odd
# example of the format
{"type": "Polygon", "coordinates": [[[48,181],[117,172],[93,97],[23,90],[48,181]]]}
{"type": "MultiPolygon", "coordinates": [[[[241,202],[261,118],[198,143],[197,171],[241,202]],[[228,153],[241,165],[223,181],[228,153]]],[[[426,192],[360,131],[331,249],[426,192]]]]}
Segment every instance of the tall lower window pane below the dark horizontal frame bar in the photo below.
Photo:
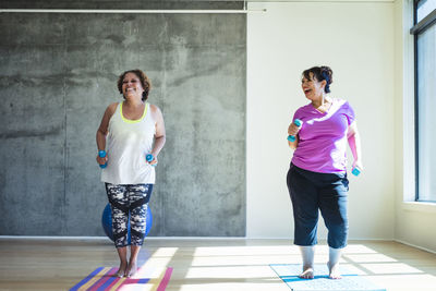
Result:
{"type": "Polygon", "coordinates": [[[419,201],[436,202],[436,25],[417,36],[419,201]]]}

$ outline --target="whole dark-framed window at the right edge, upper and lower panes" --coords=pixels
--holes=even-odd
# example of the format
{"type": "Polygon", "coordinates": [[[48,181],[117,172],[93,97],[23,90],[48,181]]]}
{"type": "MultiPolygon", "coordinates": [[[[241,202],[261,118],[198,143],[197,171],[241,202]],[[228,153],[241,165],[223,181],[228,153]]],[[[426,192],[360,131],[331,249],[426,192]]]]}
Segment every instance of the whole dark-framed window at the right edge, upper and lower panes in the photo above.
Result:
{"type": "Polygon", "coordinates": [[[416,201],[436,202],[436,0],[414,1],[416,201]]]}

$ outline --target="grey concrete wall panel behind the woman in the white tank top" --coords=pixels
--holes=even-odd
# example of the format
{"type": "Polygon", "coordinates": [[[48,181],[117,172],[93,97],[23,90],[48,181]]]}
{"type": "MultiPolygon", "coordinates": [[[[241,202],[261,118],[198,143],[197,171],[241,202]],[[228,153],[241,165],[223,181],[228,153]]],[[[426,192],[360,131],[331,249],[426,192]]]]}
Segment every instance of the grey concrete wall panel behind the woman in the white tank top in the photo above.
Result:
{"type": "Polygon", "coordinates": [[[140,68],[168,135],[150,235],[245,235],[244,14],[1,13],[0,27],[0,234],[104,235],[95,133],[140,68]]]}

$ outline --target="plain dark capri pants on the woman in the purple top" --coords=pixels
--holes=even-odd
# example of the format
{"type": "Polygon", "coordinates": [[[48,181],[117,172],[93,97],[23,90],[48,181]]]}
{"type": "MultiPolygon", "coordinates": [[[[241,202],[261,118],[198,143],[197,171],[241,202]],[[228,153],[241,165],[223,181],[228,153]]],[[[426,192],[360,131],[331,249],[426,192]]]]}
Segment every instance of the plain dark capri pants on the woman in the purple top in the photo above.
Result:
{"type": "Polygon", "coordinates": [[[294,218],[294,244],[317,244],[318,209],[328,229],[330,247],[347,246],[347,173],[318,173],[291,162],[287,177],[294,218]]]}

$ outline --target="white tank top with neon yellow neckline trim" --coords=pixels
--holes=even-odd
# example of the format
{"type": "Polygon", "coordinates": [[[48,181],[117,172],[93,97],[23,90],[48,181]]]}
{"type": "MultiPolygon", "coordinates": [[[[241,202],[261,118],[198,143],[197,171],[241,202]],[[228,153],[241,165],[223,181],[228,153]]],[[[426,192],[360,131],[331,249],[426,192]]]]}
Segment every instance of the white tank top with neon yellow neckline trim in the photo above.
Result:
{"type": "Polygon", "coordinates": [[[111,184],[154,184],[155,168],[145,160],[152,151],[156,133],[149,104],[143,117],[128,120],[122,114],[122,104],[109,120],[106,151],[108,166],[101,171],[101,181],[111,184]]]}

